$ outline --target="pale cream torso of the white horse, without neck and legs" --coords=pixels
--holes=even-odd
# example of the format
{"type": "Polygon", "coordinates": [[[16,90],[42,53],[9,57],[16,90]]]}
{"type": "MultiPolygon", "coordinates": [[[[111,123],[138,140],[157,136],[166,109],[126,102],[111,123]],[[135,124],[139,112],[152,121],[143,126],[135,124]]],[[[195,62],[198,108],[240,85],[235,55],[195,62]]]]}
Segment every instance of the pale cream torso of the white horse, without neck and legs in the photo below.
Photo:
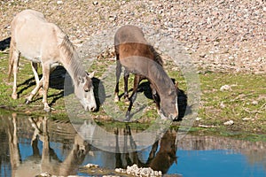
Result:
{"type": "Polygon", "coordinates": [[[12,41],[16,49],[35,62],[45,54],[52,57],[64,37],[62,30],[47,22],[41,12],[25,10],[12,20],[12,41]]]}

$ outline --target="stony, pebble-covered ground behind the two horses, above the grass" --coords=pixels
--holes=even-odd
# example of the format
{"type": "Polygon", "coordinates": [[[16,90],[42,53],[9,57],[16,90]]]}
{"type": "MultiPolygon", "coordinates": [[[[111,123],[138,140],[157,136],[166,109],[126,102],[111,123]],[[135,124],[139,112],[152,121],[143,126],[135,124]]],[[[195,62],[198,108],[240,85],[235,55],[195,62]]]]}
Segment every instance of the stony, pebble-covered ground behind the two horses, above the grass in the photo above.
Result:
{"type": "Polygon", "coordinates": [[[30,8],[43,12],[78,47],[102,30],[146,24],[184,42],[200,71],[266,72],[263,0],[4,0],[0,4],[0,41],[10,36],[13,16],[30,8]]]}

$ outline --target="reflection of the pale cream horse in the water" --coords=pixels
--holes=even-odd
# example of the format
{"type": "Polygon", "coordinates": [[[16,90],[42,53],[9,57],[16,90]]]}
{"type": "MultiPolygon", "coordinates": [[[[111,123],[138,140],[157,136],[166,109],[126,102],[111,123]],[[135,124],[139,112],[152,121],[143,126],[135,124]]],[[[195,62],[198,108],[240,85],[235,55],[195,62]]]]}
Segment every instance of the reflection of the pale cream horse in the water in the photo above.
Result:
{"type": "Polygon", "coordinates": [[[61,176],[77,173],[78,165],[82,164],[85,155],[89,151],[89,144],[84,143],[79,135],[74,135],[72,149],[69,151],[64,161],[60,161],[55,151],[51,149],[47,131],[47,118],[29,118],[28,120],[34,128],[31,139],[33,154],[24,161],[21,161],[18,126],[15,113],[12,114],[12,119],[9,121],[8,142],[12,176],[35,176],[43,172],[61,176]],[[42,153],[38,147],[38,141],[43,142],[42,153]]]}

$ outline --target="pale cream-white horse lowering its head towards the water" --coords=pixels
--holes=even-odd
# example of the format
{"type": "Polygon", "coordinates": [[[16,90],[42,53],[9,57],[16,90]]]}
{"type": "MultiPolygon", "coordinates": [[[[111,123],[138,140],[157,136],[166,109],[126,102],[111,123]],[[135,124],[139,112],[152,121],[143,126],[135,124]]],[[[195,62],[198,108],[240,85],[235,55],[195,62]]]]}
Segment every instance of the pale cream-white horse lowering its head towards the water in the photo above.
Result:
{"type": "Polygon", "coordinates": [[[97,109],[91,81],[93,73],[89,74],[84,70],[74,45],[59,27],[47,22],[43,13],[25,10],[14,17],[11,30],[9,77],[13,71],[12,98],[18,98],[17,72],[22,55],[32,62],[36,81],[35,89],[27,96],[26,103],[29,103],[43,86],[44,110],[51,111],[47,103],[49,75],[57,65],[62,64],[74,82],[74,94],[84,109],[91,112],[97,109]],[[40,81],[36,73],[36,63],[43,66],[43,78],[40,81]]]}

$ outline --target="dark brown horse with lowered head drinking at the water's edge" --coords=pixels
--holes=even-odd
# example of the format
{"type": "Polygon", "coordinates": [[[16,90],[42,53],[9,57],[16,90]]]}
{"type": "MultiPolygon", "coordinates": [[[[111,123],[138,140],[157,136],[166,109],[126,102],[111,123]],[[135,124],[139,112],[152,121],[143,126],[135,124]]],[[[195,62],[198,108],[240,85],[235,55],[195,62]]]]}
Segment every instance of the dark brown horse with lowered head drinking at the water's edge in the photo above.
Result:
{"type": "Polygon", "coordinates": [[[137,98],[137,86],[147,79],[153,91],[153,99],[163,119],[176,119],[178,116],[176,87],[168,74],[163,70],[160,61],[156,60],[152,46],[146,42],[144,33],[136,26],[120,27],[114,35],[114,50],[116,55],[116,86],[114,101],[118,101],[119,78],[121,65],[124,72],[124,97],[129,99],[126,120],[130,119],[130,111],[137,98]],[[129,73],[134,73],[132,95],[128,94],[129,73]]]}

